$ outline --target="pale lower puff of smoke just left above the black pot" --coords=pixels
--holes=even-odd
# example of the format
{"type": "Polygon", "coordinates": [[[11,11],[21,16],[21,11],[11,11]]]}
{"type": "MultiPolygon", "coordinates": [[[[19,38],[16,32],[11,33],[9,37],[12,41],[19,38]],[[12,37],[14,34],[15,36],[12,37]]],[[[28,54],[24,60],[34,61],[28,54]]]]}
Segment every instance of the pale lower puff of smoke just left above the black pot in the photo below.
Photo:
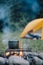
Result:
{"type": "Polygon", "coordinates": [[[10,31],[9,27],[5,27],[3,29],[3,31],[4,31],[4,33],[3,33],[3,36],[2,36],[2,43],[4,45],[6,45],[5,48],[7,49],[8,48],[8,41],[11,38],[11,31],[10,31]]]}

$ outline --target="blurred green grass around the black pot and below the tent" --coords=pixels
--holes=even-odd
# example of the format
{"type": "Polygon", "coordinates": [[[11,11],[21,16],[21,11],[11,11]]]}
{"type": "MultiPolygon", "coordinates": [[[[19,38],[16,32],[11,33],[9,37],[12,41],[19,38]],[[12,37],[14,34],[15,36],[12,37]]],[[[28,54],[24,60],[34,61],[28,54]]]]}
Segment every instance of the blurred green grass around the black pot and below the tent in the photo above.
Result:
{"type": "Polygon", "coordinates": [[[30,40],[30,39],[20,39],[20,34],[22,31],[15,31],[6,37],[7,42],[2,43],[3,35],[0,33],[0,50],[5,50],[8,46],[8,40],[19,40],[20,48],[32,48],[33,51],[42,51],[43,52],[43,41],[42,40],[30,40]]]}

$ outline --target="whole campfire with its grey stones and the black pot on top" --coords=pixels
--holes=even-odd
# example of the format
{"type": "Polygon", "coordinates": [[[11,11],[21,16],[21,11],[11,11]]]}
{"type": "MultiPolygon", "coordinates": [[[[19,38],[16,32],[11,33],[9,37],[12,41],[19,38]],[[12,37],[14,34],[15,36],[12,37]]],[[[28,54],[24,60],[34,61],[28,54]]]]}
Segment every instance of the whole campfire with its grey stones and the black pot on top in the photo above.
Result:
{"type": "Polygon", "coordinates": [[[32,52],[30,49],[18,47],[17,41],[10,41],[4,56],[0,56],[2,65],[43,65],[43,53],[32,52]],[[5,61],[6,60],[6,61],[5,61]]]}

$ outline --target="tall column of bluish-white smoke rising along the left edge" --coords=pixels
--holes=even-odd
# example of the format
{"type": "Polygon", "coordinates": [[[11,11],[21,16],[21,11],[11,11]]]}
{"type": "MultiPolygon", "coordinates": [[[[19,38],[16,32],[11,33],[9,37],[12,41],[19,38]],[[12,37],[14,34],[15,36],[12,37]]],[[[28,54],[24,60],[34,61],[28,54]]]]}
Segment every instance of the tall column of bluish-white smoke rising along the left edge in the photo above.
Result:
{"type": "MultiPolygon", "coordinates": [[[[9,28],[9,14],[10,9],[5,4],[0,4],[0,32],[2,31],[2,43],[6,45],[11,36],[11,29],[9,28]]],[[[6,46],[7,47],[7,46],[6,46]]]]}

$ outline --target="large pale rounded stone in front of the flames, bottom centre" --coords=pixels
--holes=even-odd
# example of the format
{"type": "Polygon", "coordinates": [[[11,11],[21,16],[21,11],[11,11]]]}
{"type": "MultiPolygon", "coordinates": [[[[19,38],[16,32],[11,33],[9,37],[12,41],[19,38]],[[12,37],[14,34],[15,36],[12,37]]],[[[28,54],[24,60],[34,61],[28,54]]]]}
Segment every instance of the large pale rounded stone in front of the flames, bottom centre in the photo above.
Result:
{"type": "Polygon", "coordinates": [[[24,64],[29,65],[29,62],[20,56],[10,56],[8,59],[9,64],[24,64]]]}

